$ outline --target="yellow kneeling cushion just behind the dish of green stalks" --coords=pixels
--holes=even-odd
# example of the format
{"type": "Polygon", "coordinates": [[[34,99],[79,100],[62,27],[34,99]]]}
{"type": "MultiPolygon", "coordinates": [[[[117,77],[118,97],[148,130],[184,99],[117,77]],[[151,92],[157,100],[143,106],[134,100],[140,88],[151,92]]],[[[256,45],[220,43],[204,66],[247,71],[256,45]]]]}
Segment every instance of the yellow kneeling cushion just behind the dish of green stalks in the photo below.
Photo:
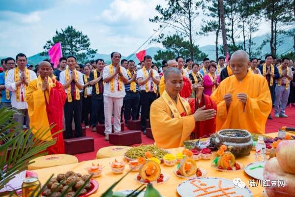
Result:
{"type": "Polygon", "coordinates": [[[123,156],[124,153],[131,147],[129,146],[107,146],[99,149],[96,153],[96,159],[119,157],[123,156]]]}

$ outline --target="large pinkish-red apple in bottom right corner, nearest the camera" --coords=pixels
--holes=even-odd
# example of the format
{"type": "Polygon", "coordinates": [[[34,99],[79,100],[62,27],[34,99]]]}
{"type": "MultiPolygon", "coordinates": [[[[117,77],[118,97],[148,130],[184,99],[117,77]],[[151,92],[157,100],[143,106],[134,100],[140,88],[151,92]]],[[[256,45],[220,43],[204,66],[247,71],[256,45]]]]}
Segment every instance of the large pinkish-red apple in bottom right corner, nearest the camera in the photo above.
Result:
{"type": "Polygon", "coordinates": [[[268,160],[264,166],[264,180],[269,180],[270,187],[265,187],[267,197],[295,197],[295,175],[283,171],[274,157],[268,160]],[[285,187],[278,185],[271,186],[271,180],[285,180],[285,187]]]}

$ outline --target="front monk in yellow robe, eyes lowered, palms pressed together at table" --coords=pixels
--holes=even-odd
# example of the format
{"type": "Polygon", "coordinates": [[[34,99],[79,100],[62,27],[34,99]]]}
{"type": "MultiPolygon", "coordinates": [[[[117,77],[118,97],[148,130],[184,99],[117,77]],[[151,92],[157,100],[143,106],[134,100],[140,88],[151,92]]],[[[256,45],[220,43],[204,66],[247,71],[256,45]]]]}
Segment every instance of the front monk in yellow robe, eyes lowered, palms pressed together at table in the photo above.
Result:
{"type": "MultiPolygon", "coordinates": [[[[191,113],[189,103],[179,96],[183,87],[183,77],[177,68],[170,67],[165,71],[164,82],[166,85],[163,94],[150,106],[151,131],[158,147],[176,148],[189,139],[196,121],[213,119],[216,111],[203,110],[206,107],[203,106],[194,114],[191,113]]],[[[196,85],[201,87],[200,84],[196,85]]]]}

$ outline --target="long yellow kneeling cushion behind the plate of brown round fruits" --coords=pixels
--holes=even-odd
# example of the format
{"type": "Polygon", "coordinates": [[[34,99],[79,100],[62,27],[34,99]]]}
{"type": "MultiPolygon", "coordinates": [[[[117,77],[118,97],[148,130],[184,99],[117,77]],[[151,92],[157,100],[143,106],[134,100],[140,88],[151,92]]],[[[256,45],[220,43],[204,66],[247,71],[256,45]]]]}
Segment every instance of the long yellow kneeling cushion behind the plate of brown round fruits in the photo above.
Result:
{"type": "Polygon", "coordinates": [[[29,162],[34,162],[32,164],[29,164],[28,166],[29,170],[34,170],[34,169],[41,169],[45,167],[76,164],[78,163],[78,159],[72,155],[58,154],[58,155],[41,156],[29,162]]]}

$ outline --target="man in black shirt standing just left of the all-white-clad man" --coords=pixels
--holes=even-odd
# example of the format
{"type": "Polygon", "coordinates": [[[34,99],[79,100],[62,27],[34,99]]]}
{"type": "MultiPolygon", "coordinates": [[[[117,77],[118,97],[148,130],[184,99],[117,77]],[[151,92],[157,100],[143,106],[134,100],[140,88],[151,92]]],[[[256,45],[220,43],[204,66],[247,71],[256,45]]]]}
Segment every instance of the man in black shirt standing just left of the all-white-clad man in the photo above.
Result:
{"type": "Polygon", "coordinates": [[[104,60],[97,59],[97,68],[90,72],[89,80],[92,86],[92,111],[91,111],[91,121],[92,121],[92,131],[96,131],[97,122],[99,124],[104,124],[104,106],[103,106],[103,80],[102,73],[104,68],[104,60]]]}

